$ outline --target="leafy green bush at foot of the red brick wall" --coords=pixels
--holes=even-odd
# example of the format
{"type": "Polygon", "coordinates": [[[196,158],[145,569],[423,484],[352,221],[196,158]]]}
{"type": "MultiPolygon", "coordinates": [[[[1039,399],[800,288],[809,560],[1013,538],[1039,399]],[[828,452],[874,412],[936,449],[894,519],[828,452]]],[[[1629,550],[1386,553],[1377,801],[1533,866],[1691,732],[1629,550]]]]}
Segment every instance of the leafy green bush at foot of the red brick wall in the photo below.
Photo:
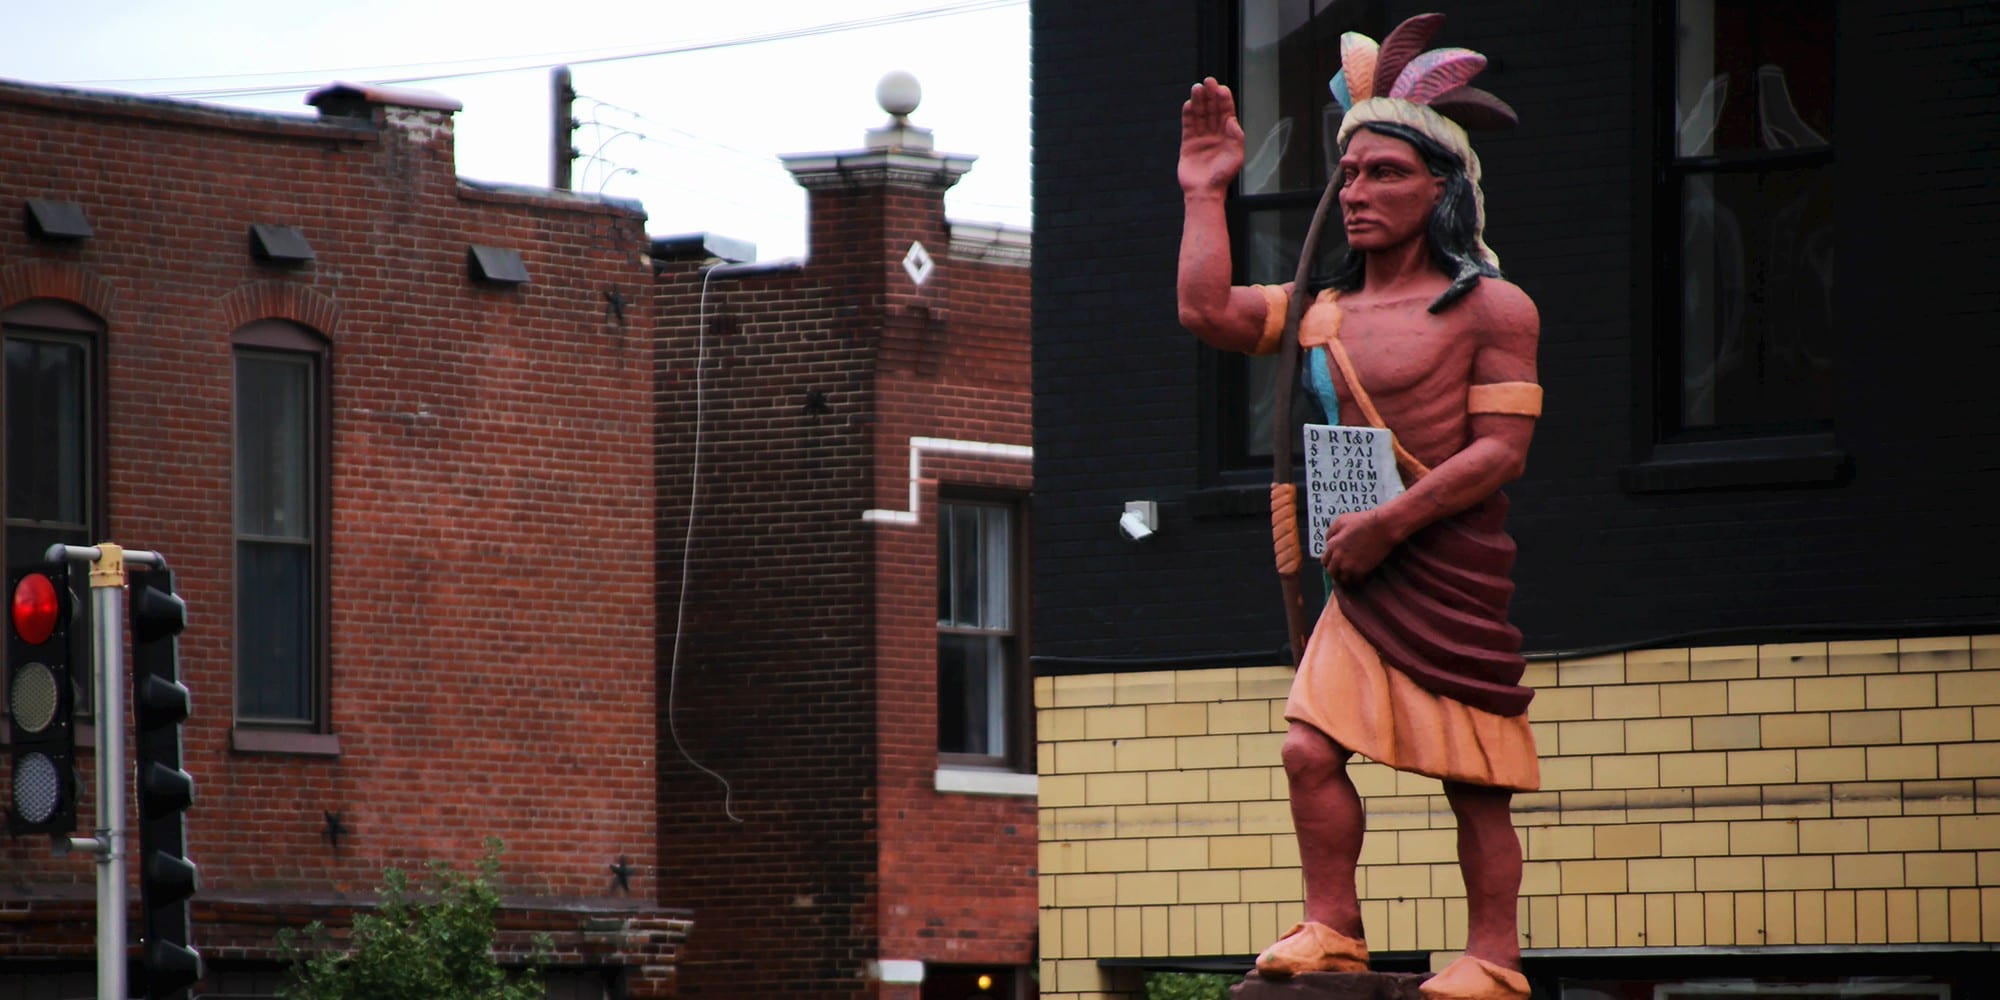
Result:
{"type": "Polygon", "coordinates": [[[284,1000],[542,1000],[540,962],[548,938],[518,976],[494,960],[494,914],[500,910],[500,840],[486,838],[478,872],[430,862],[428,884],[414,892],[398,868],[382,872],[382,902],[356,912],[346,950],[332,948],[318,922],[306,926],[308,946],[292,930],[278,950],[292,964],[284,1000]]]}

